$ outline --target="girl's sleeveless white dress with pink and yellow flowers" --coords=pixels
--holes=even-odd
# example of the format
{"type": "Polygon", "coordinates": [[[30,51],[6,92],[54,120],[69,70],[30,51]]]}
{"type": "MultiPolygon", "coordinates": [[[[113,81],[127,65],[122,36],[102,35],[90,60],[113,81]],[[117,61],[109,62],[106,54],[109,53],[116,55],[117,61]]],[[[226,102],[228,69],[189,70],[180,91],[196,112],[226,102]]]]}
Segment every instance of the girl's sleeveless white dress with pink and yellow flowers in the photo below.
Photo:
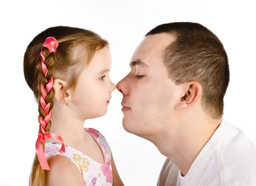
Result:
{"type": "Polygon", "coordinates": [[[45,156],[61,155],[72,161],[84,177],[84,186],[112,186],[111,151],[105,137],[93,128],[84,128],[98,143],[102,150],[105,164],[92,160],[82,152],[65,145],[65,153],[59,152],[61,143],[50,142],[45,144],[45,156]]]}

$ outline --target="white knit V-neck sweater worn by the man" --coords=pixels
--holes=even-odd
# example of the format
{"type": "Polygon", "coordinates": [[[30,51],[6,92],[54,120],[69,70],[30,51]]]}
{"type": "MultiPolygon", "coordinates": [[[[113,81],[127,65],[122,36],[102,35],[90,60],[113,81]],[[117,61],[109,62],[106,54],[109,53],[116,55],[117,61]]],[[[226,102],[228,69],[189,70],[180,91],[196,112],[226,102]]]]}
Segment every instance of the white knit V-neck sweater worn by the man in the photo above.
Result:
{"type": "Polygon", "coordinates": [[[188,174],[167,158],[157,186],[256,186],[256,145],[222,119],[188,174]]]}

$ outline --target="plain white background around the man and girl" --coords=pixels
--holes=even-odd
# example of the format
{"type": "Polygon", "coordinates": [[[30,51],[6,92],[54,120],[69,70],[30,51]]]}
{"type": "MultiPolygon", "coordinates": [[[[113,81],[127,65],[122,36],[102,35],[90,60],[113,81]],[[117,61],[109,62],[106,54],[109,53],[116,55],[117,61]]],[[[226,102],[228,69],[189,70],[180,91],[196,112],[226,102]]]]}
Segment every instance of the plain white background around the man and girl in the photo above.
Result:
{"type": "MultiPolygon", "coordinates": [[[[0,186],[27,186],[38,132],[38,107],[23,76],[29,42],[50,26],[90,29],[111,43],[111,79],[116,84],[144,35],[155,26],[192,21],[207,26],[223,42],[230,61],[224,118],[256,143],[256,29],[252,1],[204,0],[16,0],[0,3],[0,186]]],[[[39,55],[39,54],[38,54],[39,55]]],[[[108,113],[88,120],[111,145],[125,186],[155,186],[165,157],[122,128],[117,90],[108,113]]]]}

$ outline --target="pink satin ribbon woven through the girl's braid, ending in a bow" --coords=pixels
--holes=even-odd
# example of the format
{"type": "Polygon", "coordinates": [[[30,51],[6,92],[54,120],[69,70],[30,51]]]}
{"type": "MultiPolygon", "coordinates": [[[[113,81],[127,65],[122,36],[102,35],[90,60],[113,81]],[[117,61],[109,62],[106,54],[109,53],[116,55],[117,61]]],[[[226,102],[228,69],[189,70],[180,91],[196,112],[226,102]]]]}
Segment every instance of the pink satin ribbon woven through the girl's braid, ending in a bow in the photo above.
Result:
{"type": "MultiPolygon", "coordinates": [[[[43,47],[47,47],[49,49],[49,54],[50,54],[50,53],[56,51],[56,49],[58,47],[58,41],[53,37],[49,37],[45,40],[43,47]]],[[[43,49],[43,47],[42,47],[42,49],[43,49]]],[[[47,69],[47,66],[44,63],[45,62],[45,57],[43,55],[42,49],[41,49],[41,52],[40,52],[40,55],[42,57],[41,65],[42,65],[44,76],[46,77],[48,69],[47,69]]],[[[43,151],[43,148],[42,148],[42,145],[41,145],[41,143],[44,142],[45,139],[47,139],[47,138],[56,138],[56,139],[60,140],[62,142],[62,146],[61,146],[61,149],[60,149],[59,152],[61,152],[61,153],[65,152],[65,146],[64,146],[63,139],[57,134],[52,134],[52,133],[48,133],[49,131],[45,131],[45,127],[51,119],[51,111],[49,111],[50,103],[46,104],[45,98],[47,97],[47,94],[49,93],[49,91],[52,89],[52,86],[53,86],[52,76],[49,78],[49,81],[48,81],[46,87],[44,87],[44,85],[41,83],[42,96],[41,96],[41,99],[40,99],[40,104],[41,104],[41,107],[44,109],[44,113],[46,114],[46,116],[44,118],[42,116],[40,116],[41,130],[39,129],[38,139],[36,140],[36,143],[35,143],[36,154],[38,156],[38,160],[40,162],[40,165],[41,165],[42,169],[45,169],[45,170],[51,170],[49,168],[49,165],[47,163],[47,160],[46,160],[46,157],[44,155],[44,151],[43,151]],[[46,90],[47,93],[45,92],[45,90],[46,90]]]]}

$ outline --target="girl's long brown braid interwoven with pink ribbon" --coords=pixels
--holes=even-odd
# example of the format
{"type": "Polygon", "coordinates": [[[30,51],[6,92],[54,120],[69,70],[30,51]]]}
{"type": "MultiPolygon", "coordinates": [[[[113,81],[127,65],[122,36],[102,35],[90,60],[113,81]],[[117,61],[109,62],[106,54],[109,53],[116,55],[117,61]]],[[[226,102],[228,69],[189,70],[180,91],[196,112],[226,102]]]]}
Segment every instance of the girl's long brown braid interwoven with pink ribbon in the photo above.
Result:
{"type": "Polygon", "coordinates": [[[65,151],[64,143],[57,134],[50,134],[51,127],[51,110],[55,91],[53,86],[53,65],[58,42],[55,38],[47,38],[41,49],[41,63],[36,66],[37,76],[37,99],[38,99],[38,122],[40,123],[38,139],[36,141],[36,151],[32,171],[35,174],[31,176],[31,186],[45,186],[45,170],[50,170],[47,160],[44,156],[44,140],[55,137],[62,142],[60,152],[65,151]]]}

